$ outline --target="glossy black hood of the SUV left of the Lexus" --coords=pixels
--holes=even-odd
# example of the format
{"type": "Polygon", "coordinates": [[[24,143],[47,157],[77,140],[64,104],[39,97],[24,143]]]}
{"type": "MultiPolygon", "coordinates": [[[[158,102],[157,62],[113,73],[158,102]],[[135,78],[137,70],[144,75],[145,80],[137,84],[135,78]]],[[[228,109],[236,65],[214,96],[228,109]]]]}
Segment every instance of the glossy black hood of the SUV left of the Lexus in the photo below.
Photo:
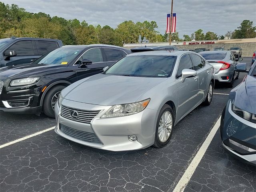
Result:
{"type": "Polygon", "coordinates": [[[45,65],[45,64],[22,64],[0,68],[0,76],[10,79],[26,78],[29,76],[41,76],[43,72],[56,70],[56,68],[67,67],[67,65],[45,65]]]}

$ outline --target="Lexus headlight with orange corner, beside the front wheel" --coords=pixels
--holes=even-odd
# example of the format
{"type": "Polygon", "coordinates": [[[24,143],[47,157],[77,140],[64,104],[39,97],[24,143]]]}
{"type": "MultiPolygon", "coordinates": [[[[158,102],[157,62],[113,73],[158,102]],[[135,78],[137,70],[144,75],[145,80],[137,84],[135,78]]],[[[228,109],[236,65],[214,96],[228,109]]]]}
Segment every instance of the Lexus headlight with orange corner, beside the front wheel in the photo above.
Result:
{"type": "Polygon", "coordinates": [[[109,110],[107,110],[106,113],[104,113],[100,118],[121,117],[136,114],[143,111],[146,106],[148,106],[149,101],[150,98],[135,103],[114,105],[109,110]]]}

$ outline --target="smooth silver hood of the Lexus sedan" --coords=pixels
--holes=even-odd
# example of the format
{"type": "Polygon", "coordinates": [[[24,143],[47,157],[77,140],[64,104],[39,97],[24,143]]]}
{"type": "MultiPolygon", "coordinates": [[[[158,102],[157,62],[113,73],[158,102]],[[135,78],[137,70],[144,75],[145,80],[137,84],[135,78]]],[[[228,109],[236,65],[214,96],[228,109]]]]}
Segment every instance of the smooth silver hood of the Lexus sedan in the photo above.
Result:
{"type": "Polygon", "coordinates": [[[96,105],[133,103],[167,78],[145,78],[97,74],[71,84],[62,91],[64,99],[96,105]]]}

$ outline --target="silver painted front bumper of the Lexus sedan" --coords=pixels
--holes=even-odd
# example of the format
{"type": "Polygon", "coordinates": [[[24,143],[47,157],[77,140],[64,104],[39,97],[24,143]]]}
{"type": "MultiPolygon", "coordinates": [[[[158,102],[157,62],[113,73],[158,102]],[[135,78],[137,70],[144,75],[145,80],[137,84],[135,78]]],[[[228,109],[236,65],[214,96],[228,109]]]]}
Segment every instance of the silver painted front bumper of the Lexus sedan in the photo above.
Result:
{"type": "Polygon", "coordinates": [[[138,150],[154,144],[155,128],[156,128],[156,110],[146,108],[142,112],[130,116],[115,117],[115,118],[100,118],[111,106],[98,106],[74,102],[70,100],[62,100],[62,105],[72,106],[74,109],[83,110],[100,110],[99,114],[88,123],[76,122],[61,115],[61,110],[58,104],[55,105],[55,117],[57,125],[55,132],[73,142],[110,151],[127,151],[138,150]],[[62,131],[61,126],[70,128],[70,134],[62,131]],[[100,142],[88,142],[80,139],[80,135],[72,135],[79,133],[86,137],[95,136],[100,142]],[[129,135],[137,136],[137,140],[131,141],[129,135]]]}

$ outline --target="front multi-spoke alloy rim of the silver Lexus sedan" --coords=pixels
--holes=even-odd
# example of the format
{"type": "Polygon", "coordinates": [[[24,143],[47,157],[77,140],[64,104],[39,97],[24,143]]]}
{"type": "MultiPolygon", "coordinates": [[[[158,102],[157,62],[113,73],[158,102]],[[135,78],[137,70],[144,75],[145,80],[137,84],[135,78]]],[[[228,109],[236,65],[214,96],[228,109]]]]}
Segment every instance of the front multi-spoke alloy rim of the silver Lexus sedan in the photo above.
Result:
{"type": "Polygon", "coordinates": [[[158,124],[158,138],[164,143],[170,137],[172,132],[172,114],[170,111],[165,111],[158,124]]]}

